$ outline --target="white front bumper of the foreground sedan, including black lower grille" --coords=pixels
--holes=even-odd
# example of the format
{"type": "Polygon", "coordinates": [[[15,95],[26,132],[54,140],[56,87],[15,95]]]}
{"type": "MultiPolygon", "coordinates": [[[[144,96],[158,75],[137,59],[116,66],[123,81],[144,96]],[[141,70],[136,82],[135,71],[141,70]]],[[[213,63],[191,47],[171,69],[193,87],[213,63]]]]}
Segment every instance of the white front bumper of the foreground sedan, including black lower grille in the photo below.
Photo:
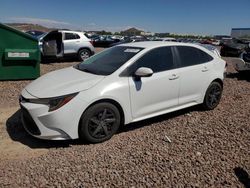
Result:
{"type": "MultiPolygon", "coordinates": [[[[22,92],[26,99],[33,97],[28,95],[29,93],[22,92]]],[[[61,108],[49,112],[48,105],[22,100],[20,106],[23,126],[30,135],[40,139],[76,139],[79,137],[78,125],[84,110],[78,108],[78,105],[83,105],[83,102],[75,97],[61,108]]]]}

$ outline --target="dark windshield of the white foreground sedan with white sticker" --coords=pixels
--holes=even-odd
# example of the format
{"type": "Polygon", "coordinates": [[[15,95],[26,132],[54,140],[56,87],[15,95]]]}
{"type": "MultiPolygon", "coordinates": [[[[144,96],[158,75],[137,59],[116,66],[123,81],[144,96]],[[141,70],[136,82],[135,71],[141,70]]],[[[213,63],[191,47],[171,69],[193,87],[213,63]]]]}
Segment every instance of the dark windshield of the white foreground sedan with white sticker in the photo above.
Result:
{"type": "Polygon", "coordinates": [[[97,75],[110,75],[142,49],[138,47],[116,46],[90,57],[75,66],[75,68],[97,75]]]}

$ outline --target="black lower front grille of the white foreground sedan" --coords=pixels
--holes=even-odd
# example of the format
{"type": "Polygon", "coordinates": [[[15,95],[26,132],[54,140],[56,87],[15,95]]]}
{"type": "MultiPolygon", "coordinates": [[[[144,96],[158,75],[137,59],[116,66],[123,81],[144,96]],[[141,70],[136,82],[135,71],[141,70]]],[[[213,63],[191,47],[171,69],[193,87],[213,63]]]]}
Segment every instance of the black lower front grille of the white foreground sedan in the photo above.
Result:
{"type": "Polygon", "coordinates": [[[25,128],[33,135],[41,135],[40,130],[38,129],[29,112],[24,107],[21,107],[21,110],[25,128]]]}

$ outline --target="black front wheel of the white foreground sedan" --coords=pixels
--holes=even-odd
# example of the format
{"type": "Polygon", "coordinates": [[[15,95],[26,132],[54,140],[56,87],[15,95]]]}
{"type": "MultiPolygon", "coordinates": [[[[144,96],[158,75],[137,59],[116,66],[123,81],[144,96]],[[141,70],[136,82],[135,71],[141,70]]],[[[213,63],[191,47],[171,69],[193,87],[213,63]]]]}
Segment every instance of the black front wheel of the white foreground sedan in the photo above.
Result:
{"type": "Polygon", "coordinates": [[[91,106],[82,115],[79,138],[90,143],[110,139],[119,129],[121,115],[116,106],[103,102],[91,106]]]}

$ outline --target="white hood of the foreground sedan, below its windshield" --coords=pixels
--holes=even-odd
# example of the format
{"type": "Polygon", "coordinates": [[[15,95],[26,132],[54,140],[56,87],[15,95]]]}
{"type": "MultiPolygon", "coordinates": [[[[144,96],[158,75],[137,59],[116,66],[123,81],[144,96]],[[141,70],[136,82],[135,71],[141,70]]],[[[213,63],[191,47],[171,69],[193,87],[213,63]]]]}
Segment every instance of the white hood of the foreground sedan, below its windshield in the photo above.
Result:
{"type": "Polygon", "coordinates": [[[105,76],[69,67],[50,72],[26,86],[26,91],[37,98],[50,98],[87,90],[105,76]]]}

